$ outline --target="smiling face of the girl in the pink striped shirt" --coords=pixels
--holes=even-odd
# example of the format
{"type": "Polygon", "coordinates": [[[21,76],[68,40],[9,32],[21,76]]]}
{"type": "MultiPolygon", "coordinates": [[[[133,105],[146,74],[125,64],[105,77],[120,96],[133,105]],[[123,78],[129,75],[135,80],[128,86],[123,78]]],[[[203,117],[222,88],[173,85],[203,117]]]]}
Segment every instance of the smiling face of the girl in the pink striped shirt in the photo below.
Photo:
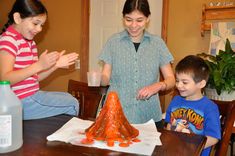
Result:
{"type": "Polygon", "coordinates": [[[14,28],[27,40],[32,40],[35,35],[42,31],[42,26],[46,22],[47,15],[40,14],[34,17],[19,19],[15,22],[14,28]]]}

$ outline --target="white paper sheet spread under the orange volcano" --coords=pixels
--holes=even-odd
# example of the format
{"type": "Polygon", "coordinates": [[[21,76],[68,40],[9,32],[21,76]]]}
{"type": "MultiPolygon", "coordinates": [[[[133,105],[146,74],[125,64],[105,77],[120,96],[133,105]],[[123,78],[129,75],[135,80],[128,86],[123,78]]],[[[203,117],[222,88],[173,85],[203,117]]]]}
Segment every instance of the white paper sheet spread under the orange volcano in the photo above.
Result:
{"type": "Polygon", "coordinates": [[[47,137],[48,141],[62,141],[79,146],[89,146],[102,149],[110,149],[113,151],[137,153],[143,155],[151,155],[155,145],[162,145],[160,135],[155,127],[153,120],[144,124],[133,124],[139,130],[138,139],[141,142],[133,142],[129,147],[120,147],[119,143],[115,143],[114,147],[109,147],[106,142],[95,141],[92,145],[81,144],[80,141],[85,138],[84,130],[88,128],[93,122],[82,120],[79,118],[72,118],[65,123],[60,129],[47,137]]]}

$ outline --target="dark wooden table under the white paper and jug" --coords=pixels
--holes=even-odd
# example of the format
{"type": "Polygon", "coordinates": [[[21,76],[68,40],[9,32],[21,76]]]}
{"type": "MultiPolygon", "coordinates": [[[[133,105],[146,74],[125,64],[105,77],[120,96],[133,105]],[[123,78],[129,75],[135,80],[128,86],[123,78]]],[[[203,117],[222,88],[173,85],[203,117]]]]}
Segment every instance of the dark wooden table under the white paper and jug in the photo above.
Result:
{"type": "MultiPolygon", "coordinates": [[[[72,117],[60,115],[39,120],[29,120],[23,123],[23,146],[1,156],[136,156],[137,154],[120,153],[116,151],[74,146],[64,142],[49,142],[46,137],[54,133],[72,117]]],[[[199,155],[204,147],[206,138],[199,135],[179,132],[161,131],[162,146],[156,146],[152,155],[161,156],[193,156],[199,155]]]]}

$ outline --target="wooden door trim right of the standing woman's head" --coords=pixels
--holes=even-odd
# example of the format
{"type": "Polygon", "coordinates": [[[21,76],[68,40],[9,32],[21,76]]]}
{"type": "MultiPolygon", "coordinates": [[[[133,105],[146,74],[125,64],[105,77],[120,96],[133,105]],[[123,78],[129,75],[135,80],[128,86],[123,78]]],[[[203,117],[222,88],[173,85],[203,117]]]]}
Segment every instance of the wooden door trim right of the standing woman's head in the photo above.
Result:
{"type": "Polygon", "coordinates": [[[167,43],[169,0],[163,0],[162,4],[162,39],[167,43]]]}

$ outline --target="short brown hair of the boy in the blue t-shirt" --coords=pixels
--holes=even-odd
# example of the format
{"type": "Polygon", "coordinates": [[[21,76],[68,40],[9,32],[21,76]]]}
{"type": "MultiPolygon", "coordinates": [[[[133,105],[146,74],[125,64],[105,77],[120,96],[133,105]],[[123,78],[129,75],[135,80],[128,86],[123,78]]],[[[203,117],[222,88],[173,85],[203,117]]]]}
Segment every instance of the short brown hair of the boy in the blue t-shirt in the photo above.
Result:
{"type": "Polygon", "coordinates": [[[175,72],[176,74],[190,74],[196,83],[202,80],[207,82],[209,78],[209,67],[202,58],[195,55],[183,58],[176,65],[175,72]]]}

